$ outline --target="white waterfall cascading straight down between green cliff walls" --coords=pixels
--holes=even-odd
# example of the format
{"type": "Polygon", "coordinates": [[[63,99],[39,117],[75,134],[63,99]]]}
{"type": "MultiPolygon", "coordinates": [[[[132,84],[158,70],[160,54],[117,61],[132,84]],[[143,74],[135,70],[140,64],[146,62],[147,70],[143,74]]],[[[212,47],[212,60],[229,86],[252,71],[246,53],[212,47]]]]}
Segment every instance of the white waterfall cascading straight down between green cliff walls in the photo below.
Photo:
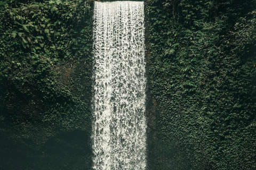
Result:
{"type": "Polygon", "coordinates": [[[145,169],[143,2],[95,2],[93,168],[145,169]]]}

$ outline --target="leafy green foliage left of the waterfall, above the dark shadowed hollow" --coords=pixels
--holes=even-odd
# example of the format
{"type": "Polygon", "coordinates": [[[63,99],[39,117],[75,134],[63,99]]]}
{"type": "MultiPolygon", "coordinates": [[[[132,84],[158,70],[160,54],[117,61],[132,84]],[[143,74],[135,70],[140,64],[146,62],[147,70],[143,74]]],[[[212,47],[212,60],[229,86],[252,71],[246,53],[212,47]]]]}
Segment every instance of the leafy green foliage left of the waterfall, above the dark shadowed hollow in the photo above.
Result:
{"type": "Polygon", "coordinates": [[[90,128],[90,2],[0,6],[1,130],[42,143],[59,131],[90,128]]]}

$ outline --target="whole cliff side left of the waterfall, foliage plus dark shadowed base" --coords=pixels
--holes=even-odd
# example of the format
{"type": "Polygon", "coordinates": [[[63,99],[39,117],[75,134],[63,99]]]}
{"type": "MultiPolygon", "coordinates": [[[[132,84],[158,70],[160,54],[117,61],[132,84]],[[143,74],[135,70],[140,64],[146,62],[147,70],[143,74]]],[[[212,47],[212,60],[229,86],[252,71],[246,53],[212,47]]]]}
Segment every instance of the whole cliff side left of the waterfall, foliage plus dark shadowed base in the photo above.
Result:
{"type": "Polygon", "coordinates": [[[90,2],[0,9],[0,168],[90,166],[90,2]]]}

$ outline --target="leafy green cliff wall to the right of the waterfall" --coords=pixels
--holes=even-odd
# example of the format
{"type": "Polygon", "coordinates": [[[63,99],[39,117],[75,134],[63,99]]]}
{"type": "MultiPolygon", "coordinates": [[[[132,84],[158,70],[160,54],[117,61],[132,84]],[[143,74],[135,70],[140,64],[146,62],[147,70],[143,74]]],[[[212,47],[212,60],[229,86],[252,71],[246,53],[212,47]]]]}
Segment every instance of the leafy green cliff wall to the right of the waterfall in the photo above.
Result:
{"type": "Polygon", "coordinates": [[[149,169],[256,168],[256,1],[146,1],[149,169]]]}

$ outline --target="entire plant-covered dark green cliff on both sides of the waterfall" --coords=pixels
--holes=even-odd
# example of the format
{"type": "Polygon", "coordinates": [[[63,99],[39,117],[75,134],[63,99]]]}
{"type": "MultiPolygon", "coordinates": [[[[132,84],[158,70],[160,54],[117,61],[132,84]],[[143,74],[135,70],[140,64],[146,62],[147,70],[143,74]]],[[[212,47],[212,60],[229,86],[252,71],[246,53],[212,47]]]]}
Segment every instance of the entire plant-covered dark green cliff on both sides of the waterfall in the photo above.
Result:
{"type": "MultiPolygon", "coordinates": [[[[89,169],[92,5],[0,2],[1,169],[89,169]]],[[[148,169],[256,168],[255,10],[145,1],[148,169]]]]}

